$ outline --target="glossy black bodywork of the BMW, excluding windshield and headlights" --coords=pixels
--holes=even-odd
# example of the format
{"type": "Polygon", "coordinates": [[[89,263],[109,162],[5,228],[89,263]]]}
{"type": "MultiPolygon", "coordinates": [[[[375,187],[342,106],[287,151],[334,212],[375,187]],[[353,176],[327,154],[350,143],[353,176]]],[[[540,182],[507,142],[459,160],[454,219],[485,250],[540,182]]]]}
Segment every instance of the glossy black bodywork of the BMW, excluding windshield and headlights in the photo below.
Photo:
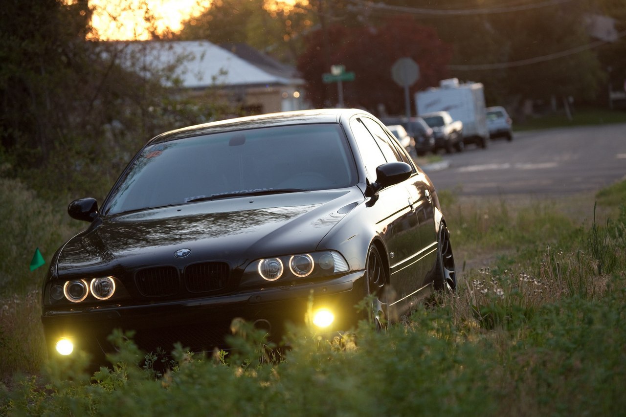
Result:
{"type": "MultiPolygon", "coordinates": [[[[354,305],[367,293],[364,274],[371,245],[381,254],[386,274],[377,296],[386,318],[407,314],[433,289],[444,219],[429,178],[369,113],[310,110],[225,120],[163,133],[144,148],[214,132],[317,123],[341,126],[357,175],[354,185],[109,214],[123,173],[100,210],[93,198],[71,203],[69,214],[90,224],[59,248],[43,283],[49,352],[55,354],[56,340],[68,336],[77,348],[98,356],[111,349],[106,336],[115,328],[136,331],[136,342],[147,351],[171,350],[176,341],[194,350],[224,348],[223,336],[235,317],[270,326],[270,334],[280,337],[286,321],[304,322],[310,294],[316,307],[336,312],[334,329],[348,329],[362,317],[354,305]],[[381,146],[386,141],[382,135],[393,143],[386,158],[394,154],[398,160],[381,163],[371,178],[365,143],[381,146]],[[257,259],[324,250],[341,254],[347,271],[274,282],[249,272],[257,259]],[[179,252],[185,256],[177,256],[179,252]],[[118,282],[110,300],[51,298],[54,285],[101,276],[118,282]],[[155,289],[155,282],[165,284],[155,289]]],[[[139,155],[141,151],[133,162],[139,155]]],[[[446,266],[450,262],[453,272],[453,259],[446,266]]]]}

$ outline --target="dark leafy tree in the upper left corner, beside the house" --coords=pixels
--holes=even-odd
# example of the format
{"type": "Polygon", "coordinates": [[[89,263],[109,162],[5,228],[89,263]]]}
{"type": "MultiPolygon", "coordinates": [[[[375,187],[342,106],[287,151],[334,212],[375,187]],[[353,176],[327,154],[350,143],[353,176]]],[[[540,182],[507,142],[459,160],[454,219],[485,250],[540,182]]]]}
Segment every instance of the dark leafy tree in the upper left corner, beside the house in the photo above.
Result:
{"type": "Polygon", "coordinates": [[[0,9],[0,165],[41,192],[103,197],[146,140],[219,111],[174,94],[175,68],[86,41],[90,13],[86,0],[0,9]]]}

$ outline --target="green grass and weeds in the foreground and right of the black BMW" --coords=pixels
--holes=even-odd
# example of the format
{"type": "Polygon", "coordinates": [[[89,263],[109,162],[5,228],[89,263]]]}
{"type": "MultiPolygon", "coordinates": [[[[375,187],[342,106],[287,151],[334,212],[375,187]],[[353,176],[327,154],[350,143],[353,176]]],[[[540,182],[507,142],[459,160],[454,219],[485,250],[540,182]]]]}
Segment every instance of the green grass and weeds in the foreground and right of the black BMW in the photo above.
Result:
{"type": "MultiPolygon", "coordinates": [[[[7,367],[3,357],[11,389],[0,391],[0,414],[623,414],[623,187],[592,196],[584,221],[558,202],[480,203],[444,193],[457,269],[468,261],[458,291],[416,307],[386,332],[364,321],[331,340],[295,328],[292,349],[277,354],[240,322],[237,352],[199,358],[179,347],[165,374],[142,368],[142,355],[121,334],[113,337],[120,352],[111,368],[94,376],[81,371],[85,358],[46,361],[28,353],[7,367]],[[484,253],[493,255],[487,265],[469,265],[484,253]],[[35,366],[41,371],[33,375],[35,366]]],[[[15,211],[18,203],[3,200],[15,211]]],[[[24,337],[41,338],[38,289],[29,291],[5,291],[2,299],[12,311],[0,316],[3,341],[16,351],[24,337]]]]}

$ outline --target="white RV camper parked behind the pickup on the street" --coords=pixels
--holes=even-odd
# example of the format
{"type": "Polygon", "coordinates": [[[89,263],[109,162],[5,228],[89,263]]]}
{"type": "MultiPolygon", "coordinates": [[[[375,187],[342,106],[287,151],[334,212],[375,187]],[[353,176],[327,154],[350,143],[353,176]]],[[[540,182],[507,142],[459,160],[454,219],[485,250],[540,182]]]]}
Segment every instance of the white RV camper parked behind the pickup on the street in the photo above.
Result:
{"type": "Polygon", "coordinates": [[[459,84],[457,78],[439,81],[438,88],[415,95],[418,116],[433,111],[448,111],[463,122],[463,142],[486,148],[489,140],[482,83],[459,84]]]}

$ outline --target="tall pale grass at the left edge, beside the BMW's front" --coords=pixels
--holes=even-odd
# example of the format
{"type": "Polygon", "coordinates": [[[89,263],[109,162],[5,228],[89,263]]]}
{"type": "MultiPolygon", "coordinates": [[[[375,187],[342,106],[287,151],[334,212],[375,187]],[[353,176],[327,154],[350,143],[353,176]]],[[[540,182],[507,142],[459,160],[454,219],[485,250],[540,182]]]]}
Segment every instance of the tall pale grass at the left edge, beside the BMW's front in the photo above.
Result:
{"type": "Polygon", "coordinates": [[[78,222],[18,180],[0,178],[0,195],[0,375],[6,376],[38,371],[46,359],[40,287],[54,251],[78,231],[78,222]],[[31,271],[36,248],[47,263],[31,271]]]}

